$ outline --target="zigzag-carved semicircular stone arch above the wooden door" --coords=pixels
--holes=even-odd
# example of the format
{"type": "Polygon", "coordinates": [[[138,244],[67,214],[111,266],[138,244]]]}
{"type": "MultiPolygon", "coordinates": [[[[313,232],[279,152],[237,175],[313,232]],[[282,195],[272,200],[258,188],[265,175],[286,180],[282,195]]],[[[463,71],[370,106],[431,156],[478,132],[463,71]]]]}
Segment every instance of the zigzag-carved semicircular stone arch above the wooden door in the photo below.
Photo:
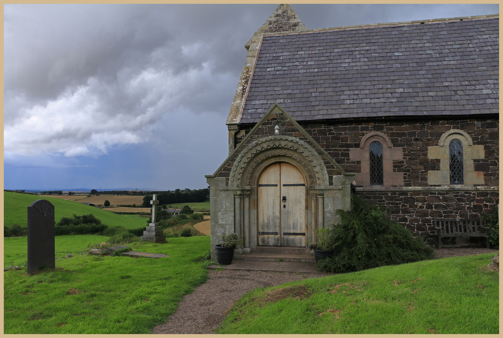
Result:
{"type": "Polygon", "coordinates": [[[255,167],[273,156],[296,159],[306,170],[311,182],[328,185],[328,174],[318,153],[304,141],[290,136],[268,136],[251,143],[236,158],[229,176],[229,187],[249,187],[255,167]]]}

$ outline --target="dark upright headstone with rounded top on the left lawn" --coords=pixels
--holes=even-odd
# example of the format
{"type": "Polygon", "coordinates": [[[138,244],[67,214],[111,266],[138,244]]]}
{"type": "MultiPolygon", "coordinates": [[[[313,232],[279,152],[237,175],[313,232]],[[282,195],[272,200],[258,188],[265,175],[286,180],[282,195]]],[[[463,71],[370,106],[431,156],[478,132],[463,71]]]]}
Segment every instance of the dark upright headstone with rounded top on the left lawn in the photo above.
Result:
{"type": "Polygon", "coordinates": [[[36,200],[28,207],[28,272],[41,266],[56,267],[54,206],[47,200],[36,200]]]}

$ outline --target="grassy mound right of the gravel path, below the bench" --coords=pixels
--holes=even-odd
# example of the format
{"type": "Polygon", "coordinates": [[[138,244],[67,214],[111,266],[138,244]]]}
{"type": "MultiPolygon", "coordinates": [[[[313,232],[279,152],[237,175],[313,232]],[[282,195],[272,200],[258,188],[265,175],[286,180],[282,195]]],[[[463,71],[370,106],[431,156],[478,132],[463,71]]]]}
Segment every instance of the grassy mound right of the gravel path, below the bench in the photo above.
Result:
{"type": "Polygon", "coordinates": [[[258,289],[217,333],[499,333],[493,253],[452,257],[258,289]]]}

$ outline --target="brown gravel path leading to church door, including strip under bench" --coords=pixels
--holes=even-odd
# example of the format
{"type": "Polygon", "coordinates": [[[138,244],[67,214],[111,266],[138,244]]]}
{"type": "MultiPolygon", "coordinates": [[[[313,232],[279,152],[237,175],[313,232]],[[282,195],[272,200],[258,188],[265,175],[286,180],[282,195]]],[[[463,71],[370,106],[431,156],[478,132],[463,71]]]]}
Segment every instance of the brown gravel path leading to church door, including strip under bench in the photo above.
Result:
{"type": "MultiPolygon", "coordinates": [[[[435,249],[435,258],[480,255],[499,250],[458,247],[435,249]]],[[[258,287],[279,285],[305,278],[318,278],[329,274],[301,274],[291,272],[210,270],[206,283],[197,287],[180,302],[174,315],[166,323],[155,326],[152,333],[215,333],[230,308],[246,292],[258,287]]]]}

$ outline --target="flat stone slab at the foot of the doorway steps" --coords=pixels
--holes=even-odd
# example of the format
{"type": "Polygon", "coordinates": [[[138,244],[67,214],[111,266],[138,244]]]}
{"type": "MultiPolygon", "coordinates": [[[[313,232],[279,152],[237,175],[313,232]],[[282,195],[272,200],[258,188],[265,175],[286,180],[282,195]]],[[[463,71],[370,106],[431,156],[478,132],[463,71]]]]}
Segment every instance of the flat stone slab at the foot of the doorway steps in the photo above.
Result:
{"type": "Polygon", "coordinates": [[[210,265],[208,269],[228,270],[254,270],[254,271],[278,271],[278,272],[301,272],[319,274],[315,263],[309,262],[269,262],[269,261],[241,261],[232,260],[229,265],[210,265]]]}

